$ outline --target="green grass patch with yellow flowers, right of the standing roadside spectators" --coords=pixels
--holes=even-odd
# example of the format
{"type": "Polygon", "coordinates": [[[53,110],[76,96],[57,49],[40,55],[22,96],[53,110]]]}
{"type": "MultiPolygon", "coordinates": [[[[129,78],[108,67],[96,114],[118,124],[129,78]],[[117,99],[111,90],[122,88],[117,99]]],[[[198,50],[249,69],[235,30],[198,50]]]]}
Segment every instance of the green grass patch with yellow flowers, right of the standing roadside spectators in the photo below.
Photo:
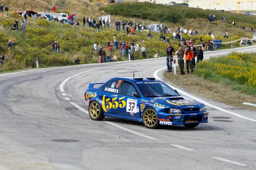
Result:
{"type": "Polygon", "coordinates": [[[199,62],[195,75],[256,95],[256,54],[231,53],[199,62]]]}

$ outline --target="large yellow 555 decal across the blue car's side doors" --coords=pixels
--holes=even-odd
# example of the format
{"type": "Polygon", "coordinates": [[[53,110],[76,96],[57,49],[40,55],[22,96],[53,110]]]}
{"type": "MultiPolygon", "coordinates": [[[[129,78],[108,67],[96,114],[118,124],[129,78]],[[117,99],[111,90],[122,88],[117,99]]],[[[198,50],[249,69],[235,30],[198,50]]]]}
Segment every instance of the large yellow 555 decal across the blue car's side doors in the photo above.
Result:
{"type": "Polygon", "coordinates": [[[117,109],[118,107],[119,108],[124,108],[125,105],[126,105],[126,102],[125,100],[122,100],[124,99],[125,96],[123,97],[120,97],[120,98],[106,98],[106,95],[103,95],[102,96],[102,109],[103,111],[105,112],[108,112],[107,109],[117,109]]]}

